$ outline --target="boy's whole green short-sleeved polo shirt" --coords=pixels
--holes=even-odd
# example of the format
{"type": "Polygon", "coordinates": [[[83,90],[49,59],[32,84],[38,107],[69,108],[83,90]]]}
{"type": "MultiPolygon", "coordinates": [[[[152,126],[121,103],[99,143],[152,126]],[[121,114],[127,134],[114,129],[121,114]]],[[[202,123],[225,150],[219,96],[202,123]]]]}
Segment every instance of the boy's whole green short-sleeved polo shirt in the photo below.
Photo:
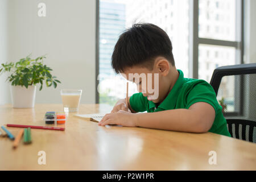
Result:
{"type": "Polygon", "coordinates": [[[207,102],[215,110],[215,119],[209,131],[231,137],[226,126],[226,119],[222,114],[222,107],[218,104],[212,86],[204,80],[184,78],[183,72],[179,69],[178,71],[180,75],[174,87],[157,108],[155,103],[148,101],[147,97],[144,97],[142,93],[135,93],[130,97],[131,108],[137,112],[147,111],[152,113],[171,109],[188,109],[196,102],[207,102]]]}

